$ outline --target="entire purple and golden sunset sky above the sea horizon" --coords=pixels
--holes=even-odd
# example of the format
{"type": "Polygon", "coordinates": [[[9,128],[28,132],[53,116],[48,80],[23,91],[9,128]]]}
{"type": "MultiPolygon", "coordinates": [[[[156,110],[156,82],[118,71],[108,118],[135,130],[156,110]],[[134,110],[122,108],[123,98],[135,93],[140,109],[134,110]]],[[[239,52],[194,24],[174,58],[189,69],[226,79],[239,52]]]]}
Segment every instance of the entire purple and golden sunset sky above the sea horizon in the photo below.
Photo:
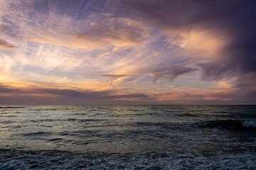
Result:
{"type": "Polygon", "coordinates": [[[0,104],[256,104],[253,0],[0,3],[0,104]]]}

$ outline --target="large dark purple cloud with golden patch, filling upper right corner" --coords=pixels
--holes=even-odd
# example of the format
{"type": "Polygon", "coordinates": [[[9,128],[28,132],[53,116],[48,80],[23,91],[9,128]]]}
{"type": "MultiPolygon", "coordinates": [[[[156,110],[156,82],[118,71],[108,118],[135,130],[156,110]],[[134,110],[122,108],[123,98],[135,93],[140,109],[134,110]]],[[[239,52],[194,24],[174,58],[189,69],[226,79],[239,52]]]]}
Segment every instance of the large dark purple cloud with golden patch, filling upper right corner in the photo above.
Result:
{"type": "Polygon", "coordinates": [[[171,43],[199,62],[203,79],[220,80],[256,71],[254,1],[122,1],[131,13],[151,20],[171,43]]]}

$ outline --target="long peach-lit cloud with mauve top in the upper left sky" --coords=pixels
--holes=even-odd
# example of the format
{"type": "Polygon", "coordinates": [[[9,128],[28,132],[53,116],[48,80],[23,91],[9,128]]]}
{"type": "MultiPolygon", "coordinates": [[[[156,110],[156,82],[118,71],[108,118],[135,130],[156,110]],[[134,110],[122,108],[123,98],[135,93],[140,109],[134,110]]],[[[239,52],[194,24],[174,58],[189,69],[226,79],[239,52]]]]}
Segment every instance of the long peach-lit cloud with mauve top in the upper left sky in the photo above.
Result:
{"type": "Polygon", "coordinates": [[[144,23],[130,18],[114,18],[110,13],[92,13],[88,19],[79,21],[59,17],[55,16],[40,28],[27,26],[21,33],[12,33],[10,28],[14,26],[2,26],[1,30],[31,42],[87,50],[132,47],[148,35],[144,23]]]}

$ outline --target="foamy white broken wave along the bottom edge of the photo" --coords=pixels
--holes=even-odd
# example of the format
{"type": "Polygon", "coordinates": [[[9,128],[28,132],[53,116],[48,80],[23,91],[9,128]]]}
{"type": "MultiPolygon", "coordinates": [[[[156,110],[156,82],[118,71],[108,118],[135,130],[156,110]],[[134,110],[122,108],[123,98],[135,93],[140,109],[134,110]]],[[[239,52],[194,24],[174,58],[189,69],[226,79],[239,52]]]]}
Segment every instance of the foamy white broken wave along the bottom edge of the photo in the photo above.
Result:
{"type": "Polygon", "coordinates": [[[0,149],[0,169],[256,169],[255,153],[210,156],[171,154],[75,154],[60,151],[0,149]]]}

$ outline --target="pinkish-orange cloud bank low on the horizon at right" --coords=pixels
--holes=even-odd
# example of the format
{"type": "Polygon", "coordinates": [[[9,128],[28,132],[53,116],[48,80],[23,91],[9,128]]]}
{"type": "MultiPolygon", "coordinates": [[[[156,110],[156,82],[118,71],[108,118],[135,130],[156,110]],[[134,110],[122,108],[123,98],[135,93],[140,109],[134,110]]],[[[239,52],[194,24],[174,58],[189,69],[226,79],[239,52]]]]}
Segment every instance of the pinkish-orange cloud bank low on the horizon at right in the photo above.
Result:
{"type": "Polygon", "coordinates": [[[245,74],[233,81],[218,82],[210,89],[179,88],[159,94],[159,101],[190,104],[255,104],[256,74],[245,74]]]}

